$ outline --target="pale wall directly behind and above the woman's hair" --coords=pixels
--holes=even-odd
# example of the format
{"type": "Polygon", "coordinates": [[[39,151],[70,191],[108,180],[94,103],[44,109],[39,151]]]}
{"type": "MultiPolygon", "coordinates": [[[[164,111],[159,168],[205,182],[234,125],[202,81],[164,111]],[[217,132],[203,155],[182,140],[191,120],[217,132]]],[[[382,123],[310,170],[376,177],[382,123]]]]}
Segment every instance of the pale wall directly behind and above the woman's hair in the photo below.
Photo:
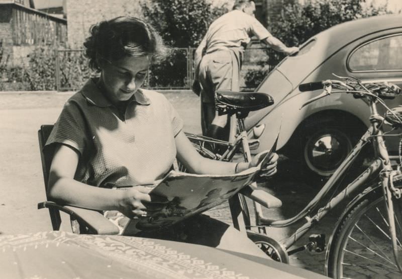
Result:
{"type": "Polygon", "coordinates": [[[66,10],[71,48],[82,48],[90,26],[98,21],[118,16],[142,17],[139,0],[67,0],[66,10]]]}

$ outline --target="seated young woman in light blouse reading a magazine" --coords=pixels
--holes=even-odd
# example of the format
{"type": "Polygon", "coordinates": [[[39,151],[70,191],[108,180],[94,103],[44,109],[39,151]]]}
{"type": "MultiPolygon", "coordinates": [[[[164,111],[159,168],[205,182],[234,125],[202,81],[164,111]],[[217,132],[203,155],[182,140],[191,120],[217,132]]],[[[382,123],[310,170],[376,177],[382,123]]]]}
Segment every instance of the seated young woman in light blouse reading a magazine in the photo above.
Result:
{"type": "MultiPolygon", "coordinates": [[[[146,215],[153,202],[144,185],[162,178],[175,158],[199,174],[230,174],[257,165],[258,157],[236,164],[200,156],[166,98],[140,88],[149,65],[167,53],[150,25],[133,17],[103,21],[91,27],[84,46],[89,65],[100,76],[67,101],[46,144],[55,148],[50,199],[136,218],[146,215]],[[112,190],[131,185],[126,191],[112,190]]],[[[276,172],[276,160],[274,154],[264,175],[276,172]]],[[[220,221],[198,216],[182,223],[148,236],[263,255],[245,237],[236,240],[240,234],[220,221]]]]}

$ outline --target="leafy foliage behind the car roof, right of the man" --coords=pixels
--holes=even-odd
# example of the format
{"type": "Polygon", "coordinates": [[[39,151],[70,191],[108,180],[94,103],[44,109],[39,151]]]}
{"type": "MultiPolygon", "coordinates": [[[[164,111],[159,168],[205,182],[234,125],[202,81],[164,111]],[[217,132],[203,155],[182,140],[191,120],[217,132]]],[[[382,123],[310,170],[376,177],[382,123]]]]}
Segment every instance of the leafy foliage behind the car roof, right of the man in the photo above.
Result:
{"type": "Polygon", "coordinates": [[[299,45],[339,23],[389,13],[386,4],[375,8],[366,0],[317,0],[287,5],[272,25],[272,33],[287,45],[299,45]]]}

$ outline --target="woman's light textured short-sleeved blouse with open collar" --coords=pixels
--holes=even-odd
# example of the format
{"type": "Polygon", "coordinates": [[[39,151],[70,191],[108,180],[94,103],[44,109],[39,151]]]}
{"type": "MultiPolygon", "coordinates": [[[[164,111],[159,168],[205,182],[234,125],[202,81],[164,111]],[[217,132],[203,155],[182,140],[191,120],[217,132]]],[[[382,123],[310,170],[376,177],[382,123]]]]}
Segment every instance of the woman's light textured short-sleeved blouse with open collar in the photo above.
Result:
{"type": "Polygon", "coordinates": [[[139,89],[124,117],[90,79],[64,105],[45,148],[79,152],[75,179],[98,187],[153,184],[171,168],[182,120],[160,93],[139,89]]]}

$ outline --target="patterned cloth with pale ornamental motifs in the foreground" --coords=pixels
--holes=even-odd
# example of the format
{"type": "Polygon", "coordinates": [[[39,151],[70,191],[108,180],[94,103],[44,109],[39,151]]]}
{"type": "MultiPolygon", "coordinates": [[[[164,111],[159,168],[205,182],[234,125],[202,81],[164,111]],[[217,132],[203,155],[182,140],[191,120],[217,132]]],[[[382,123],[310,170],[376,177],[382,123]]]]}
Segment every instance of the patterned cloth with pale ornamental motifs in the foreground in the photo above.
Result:
{"type": "Polygon", "coordinates": [[[0,274],[8,279],[246,279],[267,271],[218,249],[158,239],[60,231],[0,236],[0,274]]]}

